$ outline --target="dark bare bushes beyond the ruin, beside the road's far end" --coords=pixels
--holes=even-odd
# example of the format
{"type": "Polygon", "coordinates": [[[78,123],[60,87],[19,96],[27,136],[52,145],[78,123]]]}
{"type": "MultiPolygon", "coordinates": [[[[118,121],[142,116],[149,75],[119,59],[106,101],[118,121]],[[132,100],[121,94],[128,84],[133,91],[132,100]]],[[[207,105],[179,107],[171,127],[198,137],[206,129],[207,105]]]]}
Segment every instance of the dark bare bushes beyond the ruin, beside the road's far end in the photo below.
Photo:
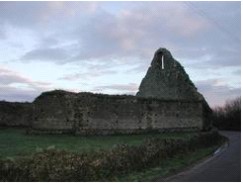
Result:
{"type": "Polygon", "coordinates": [[[213,110],[213,124],[220,130],[241,130],[241,98],[227,101],[213,110]]]}

